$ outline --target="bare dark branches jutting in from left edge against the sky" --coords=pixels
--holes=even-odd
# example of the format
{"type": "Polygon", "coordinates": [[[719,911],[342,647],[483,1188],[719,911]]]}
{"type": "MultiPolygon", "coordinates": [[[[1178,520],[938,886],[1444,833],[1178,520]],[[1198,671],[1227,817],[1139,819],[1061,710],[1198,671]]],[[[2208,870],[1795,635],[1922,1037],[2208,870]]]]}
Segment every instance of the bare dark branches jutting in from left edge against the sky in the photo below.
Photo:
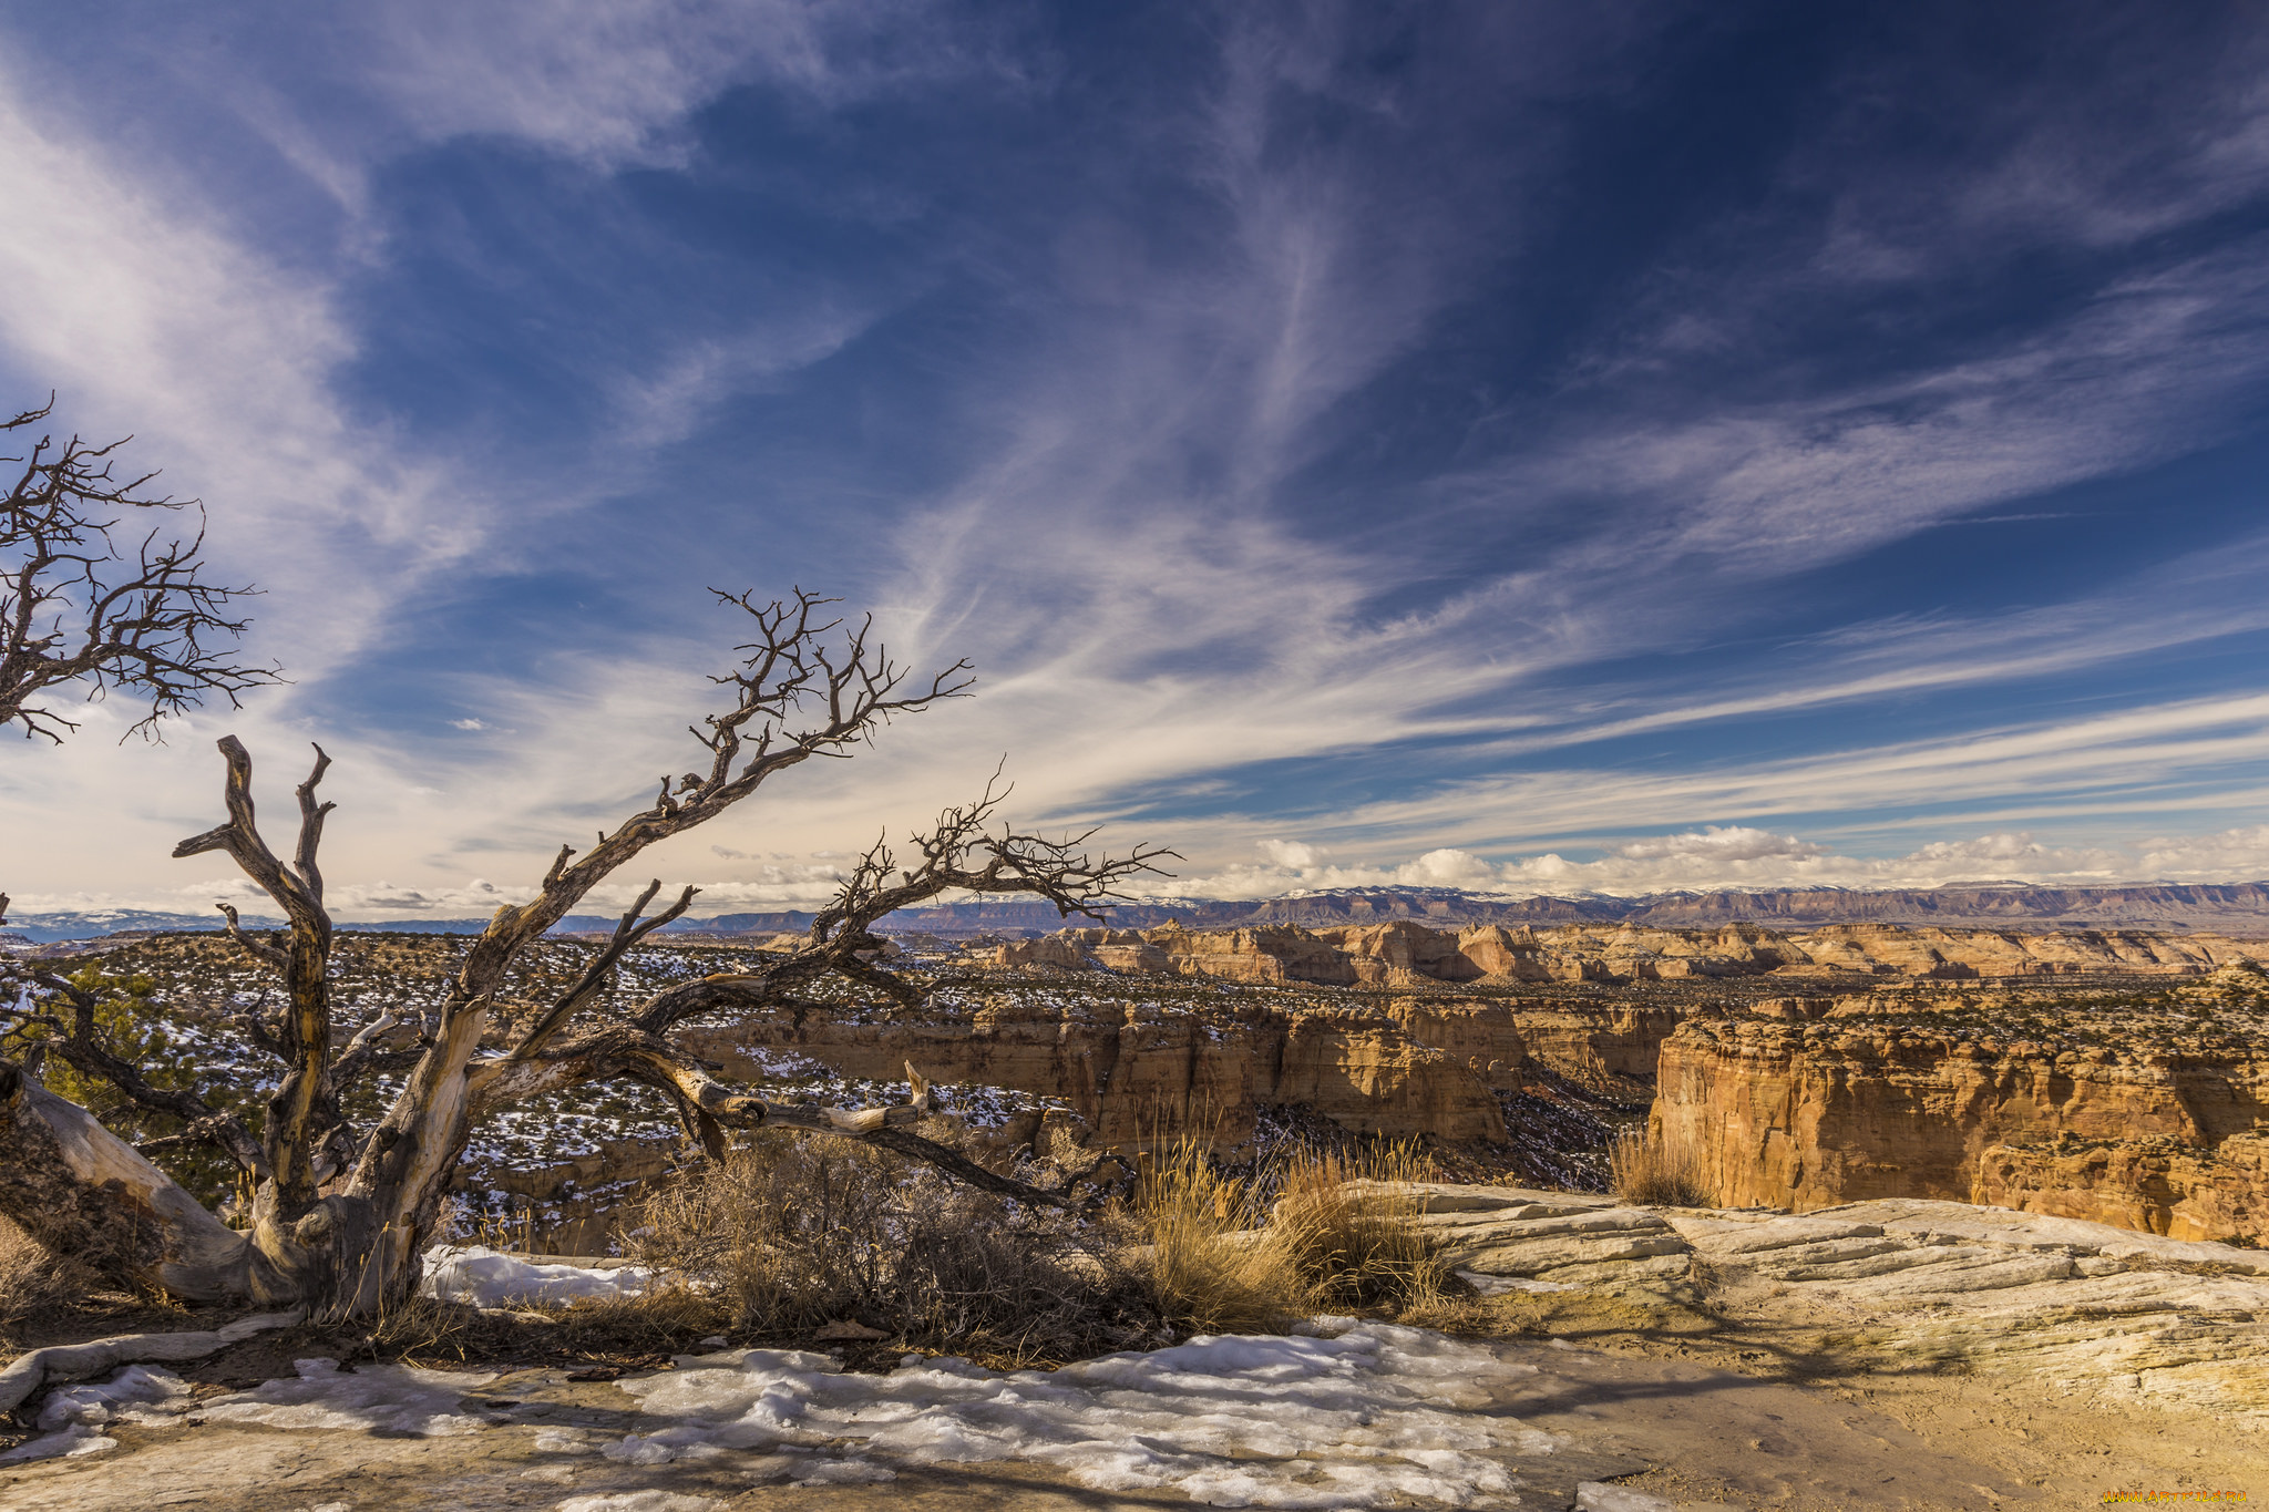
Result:
{"type": "MultiPolygon", "coordinates": [[[[50,410],[52,401],[0,419],[0,431],[29,433],[50,410]]],[[[0,499],[0,728],[23,725],[25,739],[61,741],[79,728],[36,703],[66,685],[93,698],[111,689],[147,696],[150,712],[127,734],[150,734],[206,694],[234,705],[245,689],[277,680],[275,669],[227,655],[247,623],[229,605],[252,589],[202,580],[202,512],[186,537],[152,528],[136,544],[123,530],[141,510],[197,508],[195,499],[143,494],[157,474],[113,476],[123,444],[41,435],[23,456],[0,458],[23,467],[0,499]]]]}

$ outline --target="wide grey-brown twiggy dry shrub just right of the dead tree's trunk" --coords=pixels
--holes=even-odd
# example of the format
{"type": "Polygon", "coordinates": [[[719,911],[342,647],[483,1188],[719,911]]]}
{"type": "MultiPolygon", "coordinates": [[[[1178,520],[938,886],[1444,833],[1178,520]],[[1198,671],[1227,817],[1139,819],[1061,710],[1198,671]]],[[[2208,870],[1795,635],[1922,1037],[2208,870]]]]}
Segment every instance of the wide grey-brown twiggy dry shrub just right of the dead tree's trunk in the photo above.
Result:
{"type": "Polygon", "coordinates": [[[1096,1226],[824,1136],[760,1131],[651,1195],[631,1229],[635,1260],[747,1335],[858,1322],[899,1347],[1030,1365],[1157,1331],[1139,1272],[1096,1226]]]}

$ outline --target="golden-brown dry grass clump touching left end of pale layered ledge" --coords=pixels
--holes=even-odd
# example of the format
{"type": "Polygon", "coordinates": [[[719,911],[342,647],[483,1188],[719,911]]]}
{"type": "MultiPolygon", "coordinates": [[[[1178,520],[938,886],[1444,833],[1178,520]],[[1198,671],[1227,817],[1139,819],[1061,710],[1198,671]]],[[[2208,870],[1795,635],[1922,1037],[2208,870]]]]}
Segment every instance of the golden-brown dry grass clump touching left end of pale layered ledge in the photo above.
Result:
{"type": "Polygon", "coordinates": [[[1414,1140],[1300,1152],[1284,1165],[1273,1222],[1318,1299],[1395,1310],[1441,1301],[1448,1265],[1411,1222],[1423,1201],[1409,1188],[1432,1179],[1434,1163],[1414,1140]]]}

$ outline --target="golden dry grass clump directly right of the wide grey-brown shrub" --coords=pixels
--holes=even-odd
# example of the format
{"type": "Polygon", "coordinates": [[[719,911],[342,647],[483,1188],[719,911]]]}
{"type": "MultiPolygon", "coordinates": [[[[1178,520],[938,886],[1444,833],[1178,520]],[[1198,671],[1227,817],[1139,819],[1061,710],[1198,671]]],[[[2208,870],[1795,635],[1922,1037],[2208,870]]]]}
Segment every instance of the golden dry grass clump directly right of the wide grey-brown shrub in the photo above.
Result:
{"type": "Polygon", "coordinates": [[[1316,1310],[1300,1235],[1184,1136],[1146,1161],[1134,1220],[1159,1308],[1193,1333],[1268,1333],[1316,1310]]]}

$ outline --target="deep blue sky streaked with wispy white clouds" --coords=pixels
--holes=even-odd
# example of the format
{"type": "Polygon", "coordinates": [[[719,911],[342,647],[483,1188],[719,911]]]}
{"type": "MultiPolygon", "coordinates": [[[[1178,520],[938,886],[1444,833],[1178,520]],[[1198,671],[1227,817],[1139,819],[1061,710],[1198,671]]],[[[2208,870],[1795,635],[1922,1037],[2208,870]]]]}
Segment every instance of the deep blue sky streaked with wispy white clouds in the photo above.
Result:
{"type": "Polygon", "coordinates": [[[231,895],[236,730],[336,757],[343,914],[486,909],[794,583],[980,696],[656,852],[708,911],[1003,753],[1212,895],[2262,877],[2264,79],[2253,7],[0,5],[0,381],[295,678],[9,753],[0,886],[231,895]]]}

